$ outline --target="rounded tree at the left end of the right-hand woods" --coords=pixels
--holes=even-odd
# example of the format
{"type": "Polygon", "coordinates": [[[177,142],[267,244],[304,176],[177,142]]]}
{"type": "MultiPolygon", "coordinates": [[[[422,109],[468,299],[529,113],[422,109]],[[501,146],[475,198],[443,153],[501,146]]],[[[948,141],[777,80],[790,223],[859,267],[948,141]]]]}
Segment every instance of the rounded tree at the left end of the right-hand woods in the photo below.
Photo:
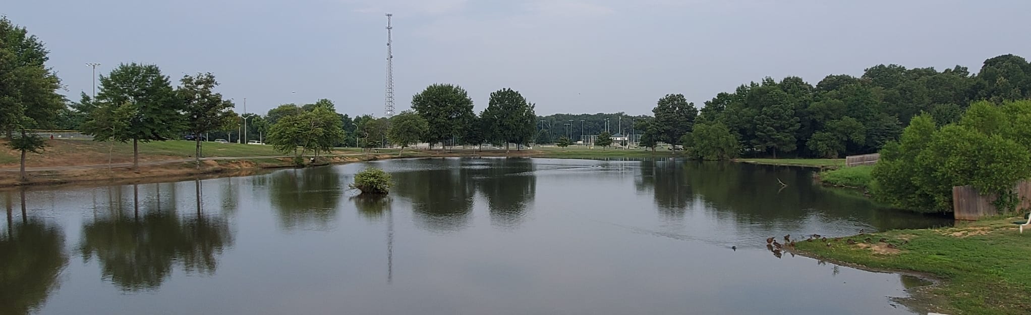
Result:
{"type": "Polygon", "coordinates": [[[691,127],[698,117],[694,103],[688,102],[683,94],[667,94],[659,99],[652,109],[655,120],[651,128],[660,141],[676,144],[684,134],[691,132],[691,127]]]}

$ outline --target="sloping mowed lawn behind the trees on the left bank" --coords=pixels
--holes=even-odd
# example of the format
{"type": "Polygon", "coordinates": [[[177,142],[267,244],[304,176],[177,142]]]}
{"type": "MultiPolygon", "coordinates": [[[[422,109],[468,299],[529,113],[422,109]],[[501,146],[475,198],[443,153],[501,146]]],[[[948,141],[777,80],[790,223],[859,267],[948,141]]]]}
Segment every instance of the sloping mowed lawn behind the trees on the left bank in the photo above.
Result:
{"type": "MultiPolygon", "coordinates": [[[[6,141],[0,140],[0,165],[16,166],[20,153],[7,149],[6,141]]],[[[101,143],[89,139],[48,139],[42,154],[27,156],[28,166],[62,166],[105,164],[108,154],[113,163],[132,161],[132,143],[101,143]]],[[[205,141],[201,145],[203,157],[258,157],[290,155],[276,152],[268,145],[219,144],[205,141]]],[[[139,143],[140,161],[157,161],[190,158],[195,155],[196,143],[188,140],[166,140],[139,143]]],[[[357,149],[341,149],[334,154],[360,152],[357,149]]]]}

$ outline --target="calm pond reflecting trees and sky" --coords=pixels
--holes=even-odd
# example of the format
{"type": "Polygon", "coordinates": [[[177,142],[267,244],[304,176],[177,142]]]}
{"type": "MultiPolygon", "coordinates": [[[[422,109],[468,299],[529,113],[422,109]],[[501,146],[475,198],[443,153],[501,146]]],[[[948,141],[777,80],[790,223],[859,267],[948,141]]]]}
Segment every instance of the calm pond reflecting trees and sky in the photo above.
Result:
{"type": "Polygon", "coordinates": [[[765,239],[951,224],[811,170],[667,159],[388,160],[0,197],[0,314],[913,314],[893,297],[919,281],[765,239]],[[387,199],[347,190],[370,165],[397,182],[387,199]]]}

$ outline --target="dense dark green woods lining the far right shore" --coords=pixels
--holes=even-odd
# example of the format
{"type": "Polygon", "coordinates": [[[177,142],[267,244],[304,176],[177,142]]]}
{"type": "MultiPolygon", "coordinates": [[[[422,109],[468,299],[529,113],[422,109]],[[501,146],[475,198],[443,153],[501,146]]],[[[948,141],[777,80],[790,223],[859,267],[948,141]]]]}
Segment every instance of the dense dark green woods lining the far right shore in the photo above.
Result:
{"type": "Polygon", "coordinates": [[[1013,55],[986,60],[976,74],[962,66],[938,71],[877,65],[860,77],[828,75],[816,86],[797,76],[766,77],[718,94],[701,111],[681,95],[667,95],[653,111],[654,120],[638,129],[648,131],[642,145],[679,143],[700,158],[724,155],[711,152],[712,144],[733,143],[738,148],[717,149],[730,155],[835,158],[877,152],[921,113],[942,126],[959,121],[972,101],[1029,95],[1031,64],[1013,55]],[[700,125],[711,128],[704,136],[690,135],[700,125]],[[699,140],[705,146],[691,150],[699,140]]]}

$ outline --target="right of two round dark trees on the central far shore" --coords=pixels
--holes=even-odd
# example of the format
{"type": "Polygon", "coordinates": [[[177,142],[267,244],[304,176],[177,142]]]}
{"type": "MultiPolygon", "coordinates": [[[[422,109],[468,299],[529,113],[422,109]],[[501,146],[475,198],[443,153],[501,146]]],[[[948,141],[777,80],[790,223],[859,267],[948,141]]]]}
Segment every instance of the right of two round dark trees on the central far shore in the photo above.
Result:
{"type": "Polygon", "coordinates": [[[525,145],[533,139],[536,129],[534,104],[512,89],[501,89],[491,93],[487,108],[480,114],[486,126],[487,138],[492,141],[525,145]]]}

